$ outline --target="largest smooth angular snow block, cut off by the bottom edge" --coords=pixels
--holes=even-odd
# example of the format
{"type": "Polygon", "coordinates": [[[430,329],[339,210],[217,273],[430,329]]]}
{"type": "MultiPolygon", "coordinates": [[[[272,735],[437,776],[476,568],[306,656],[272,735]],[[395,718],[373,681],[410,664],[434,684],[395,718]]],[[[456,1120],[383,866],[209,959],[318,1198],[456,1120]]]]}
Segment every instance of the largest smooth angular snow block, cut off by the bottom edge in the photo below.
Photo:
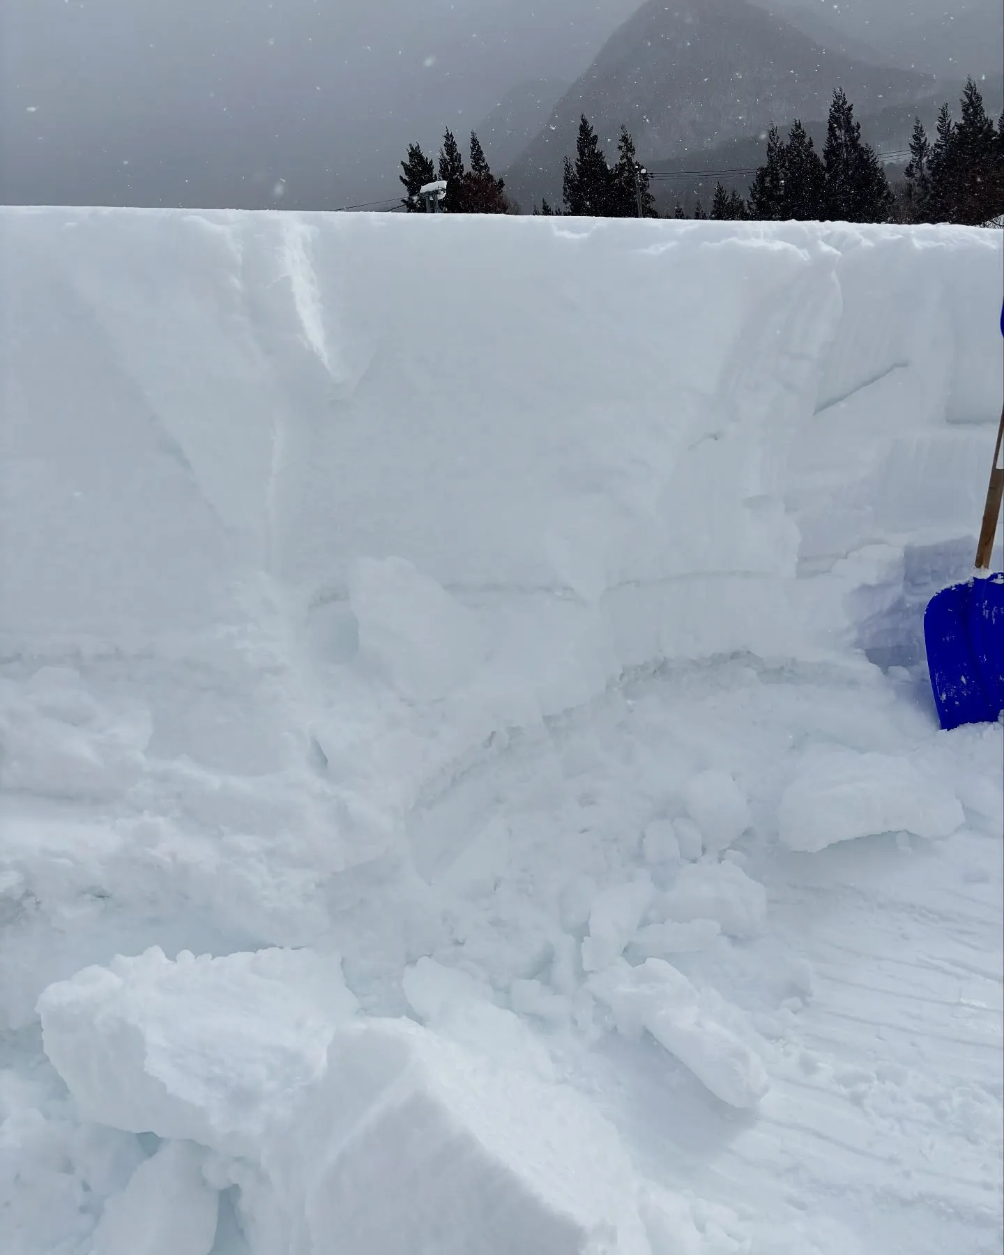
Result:
{"type": "Polygon", "coordinates": [[[340,1030],[266,1156],[316,1255],[650,1255],[615,1130],[407,1020],[340,1030]]]}

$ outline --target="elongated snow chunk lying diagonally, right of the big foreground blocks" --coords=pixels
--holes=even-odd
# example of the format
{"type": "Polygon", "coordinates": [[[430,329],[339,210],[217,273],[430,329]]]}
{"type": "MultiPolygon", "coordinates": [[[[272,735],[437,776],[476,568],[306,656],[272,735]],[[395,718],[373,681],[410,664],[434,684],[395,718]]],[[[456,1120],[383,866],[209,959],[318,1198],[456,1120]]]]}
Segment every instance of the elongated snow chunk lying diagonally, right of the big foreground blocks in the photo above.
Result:
{"type": "Polygon", "coordinates": [[[752,1107],[767,1093],[763,1059],[700,1004],[694,985],[663,959],[619,965],[590,980],[628,1035],[648,1032],[732,1107],[752,1107]]]}

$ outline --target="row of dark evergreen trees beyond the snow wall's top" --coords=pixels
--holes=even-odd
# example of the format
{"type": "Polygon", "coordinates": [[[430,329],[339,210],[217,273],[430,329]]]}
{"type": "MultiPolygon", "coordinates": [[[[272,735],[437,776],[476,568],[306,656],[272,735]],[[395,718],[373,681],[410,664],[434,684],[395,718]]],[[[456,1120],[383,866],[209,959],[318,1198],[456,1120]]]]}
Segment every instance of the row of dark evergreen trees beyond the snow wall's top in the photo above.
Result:
{"type": "MultiPolygon", "coordinates": [[[[1004,112],[994,125],[975,82],[966,80],[956,122],[941,107],[934,142],[920,119],[914,123],[910,162],[902,183],[894,187],[872,148],[861,137],[861,123],[842,88],[833,92],[826,142],[817,152],[801,120],[787,138],[773,125],[767,156],[743,198],[719,181],[710,212],[698,201],[695,218],[718,221],[821,220],[843,222],[956,222],[980,226],[1004,213],[1004,112]]],[[[447,179],[443,208],[449,213],[518,212],[505,183],[488,168],[477,136],[471,134],[471,169],[464,168],[457,141],[447,131],[438,167],[418,144],[408,148],[400,182],[409,211],[422,208],[418,191],[437,176],[447,179]]],[[[621,127],[611,163],[585,114],[579,122],[575,159],[565,158],[562,206],[542,201],[535,213],[572,217],[659,217],[651,177],[638,161],[635,142],[621,127]]],[[[679,201],[671,217],[686,217],[679,201]]]]}

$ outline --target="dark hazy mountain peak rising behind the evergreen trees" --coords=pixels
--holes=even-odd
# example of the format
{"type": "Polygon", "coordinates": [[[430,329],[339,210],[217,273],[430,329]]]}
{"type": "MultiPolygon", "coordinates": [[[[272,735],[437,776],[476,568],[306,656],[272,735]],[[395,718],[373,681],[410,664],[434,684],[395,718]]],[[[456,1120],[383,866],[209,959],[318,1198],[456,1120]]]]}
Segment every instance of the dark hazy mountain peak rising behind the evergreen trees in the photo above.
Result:
{"type": "Polygon", "coordinates": [[[558,198],[562,161],[585,113],[607,148],[621,124],[643,159],[825,118],[841,85],[858,114],[909,103],[930,79],[830,51],[748,0],[649,0],[620,26],[506,174],[528,207],[558,198]]]}

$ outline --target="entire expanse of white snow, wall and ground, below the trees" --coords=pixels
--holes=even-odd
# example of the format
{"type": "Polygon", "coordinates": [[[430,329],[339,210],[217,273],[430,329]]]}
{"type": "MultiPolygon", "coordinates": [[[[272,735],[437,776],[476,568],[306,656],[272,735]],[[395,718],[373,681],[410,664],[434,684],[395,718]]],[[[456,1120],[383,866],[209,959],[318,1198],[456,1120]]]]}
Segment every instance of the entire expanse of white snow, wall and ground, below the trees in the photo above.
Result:
{"type": "Polygon", "coordinates": [[[0,225],[5,1255],[999,1255],[1000,236],[0,225]]]}

